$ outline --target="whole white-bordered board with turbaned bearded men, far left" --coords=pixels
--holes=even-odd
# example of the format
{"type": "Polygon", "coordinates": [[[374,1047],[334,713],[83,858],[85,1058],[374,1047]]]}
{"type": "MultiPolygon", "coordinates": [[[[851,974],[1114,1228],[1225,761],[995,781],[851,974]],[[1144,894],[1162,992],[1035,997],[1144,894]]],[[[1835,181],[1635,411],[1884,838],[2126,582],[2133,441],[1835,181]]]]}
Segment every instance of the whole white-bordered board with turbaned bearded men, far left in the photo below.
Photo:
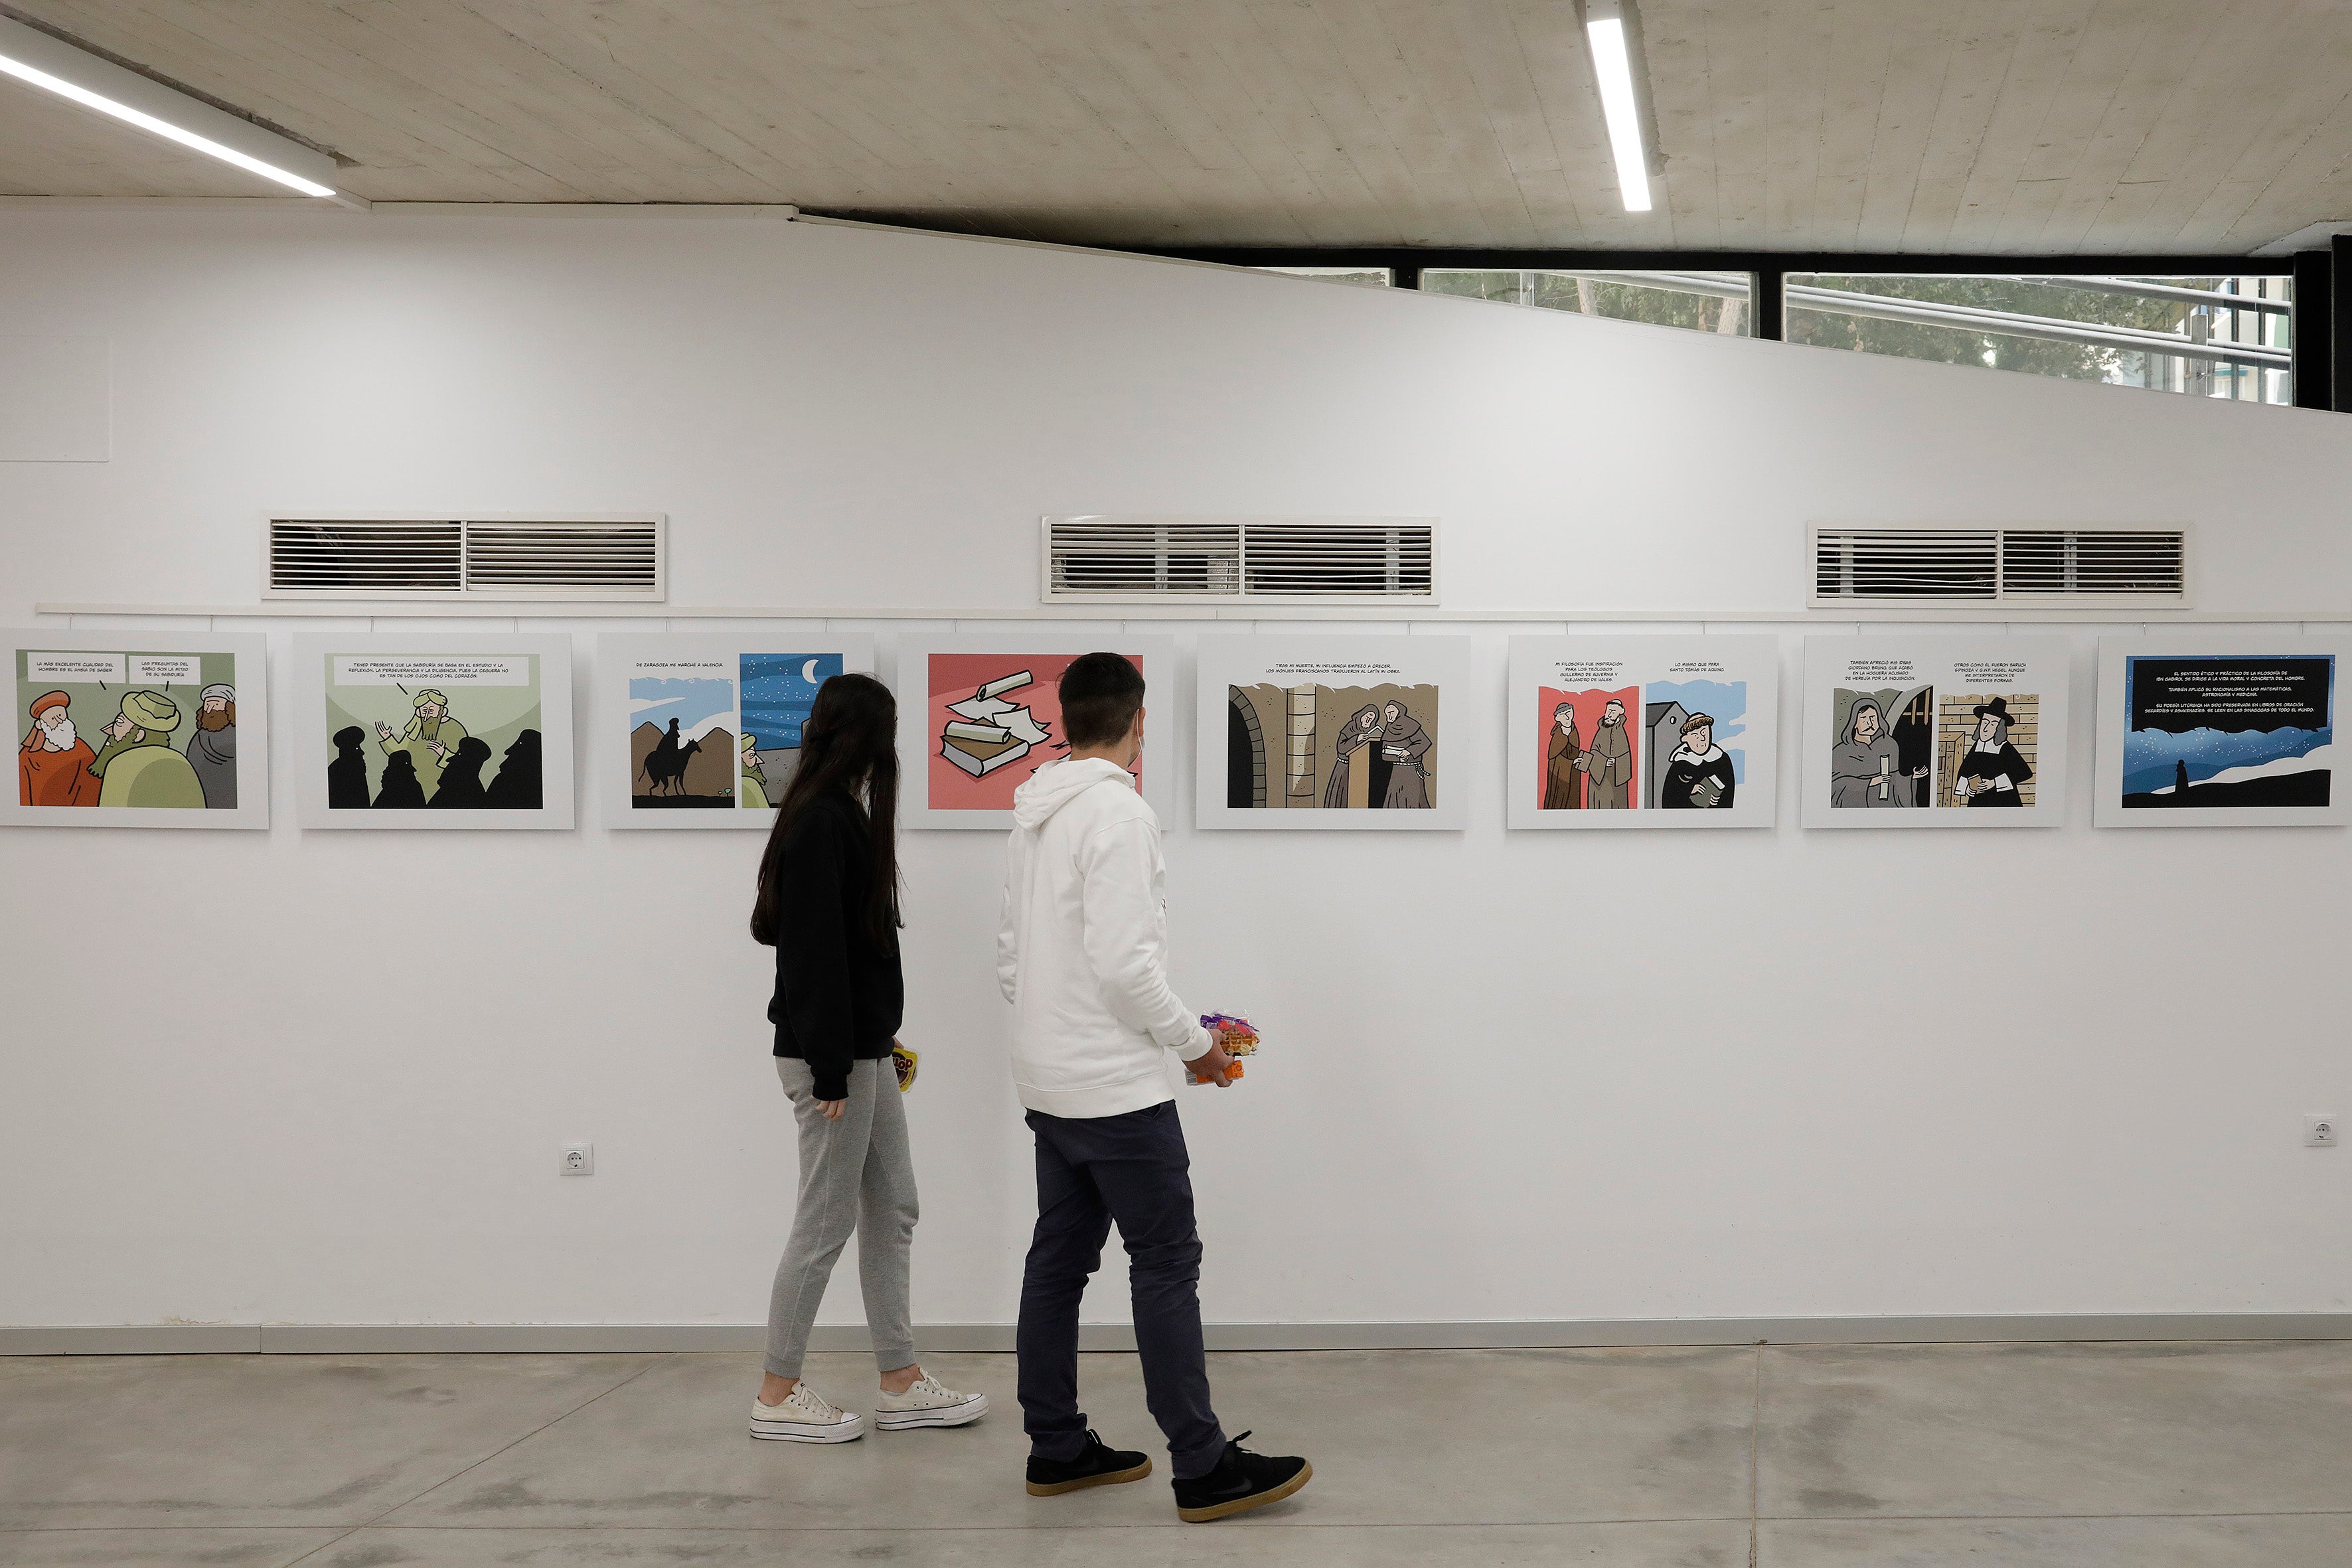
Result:
{"type": "Polygon", "coordinates": [[[270,682],[254,635],[7,632],[16,827],[268,827],[270,682]]]}

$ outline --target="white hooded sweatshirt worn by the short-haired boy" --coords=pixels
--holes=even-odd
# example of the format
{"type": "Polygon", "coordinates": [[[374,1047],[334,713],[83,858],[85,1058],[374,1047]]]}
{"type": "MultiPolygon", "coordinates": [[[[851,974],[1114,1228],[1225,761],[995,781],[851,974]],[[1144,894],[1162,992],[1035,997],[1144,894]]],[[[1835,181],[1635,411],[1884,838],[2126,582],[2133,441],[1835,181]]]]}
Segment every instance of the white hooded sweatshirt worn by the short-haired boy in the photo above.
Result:
{"type": "Polygon", "coordinates": [[[997,980],[1014,1004],[1014,1088],[1049,1117],[1174,1100],[1167,1051],[1209,1032],[1167,978],[1160,816],[1103,757],[1049,762],[1014,790],[997,980]]]}

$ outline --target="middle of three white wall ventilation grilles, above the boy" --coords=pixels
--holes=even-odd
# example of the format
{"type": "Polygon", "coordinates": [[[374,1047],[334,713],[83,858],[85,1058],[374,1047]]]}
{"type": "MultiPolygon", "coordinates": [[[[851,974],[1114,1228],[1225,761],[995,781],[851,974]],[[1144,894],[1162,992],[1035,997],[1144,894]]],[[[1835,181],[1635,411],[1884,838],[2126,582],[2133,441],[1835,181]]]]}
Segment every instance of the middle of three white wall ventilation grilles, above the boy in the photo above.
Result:
{"type": "Polygon", "coordinates": [[[1047,517],[1047,599],[1437,602],[1435,517],[1047,517]]]}

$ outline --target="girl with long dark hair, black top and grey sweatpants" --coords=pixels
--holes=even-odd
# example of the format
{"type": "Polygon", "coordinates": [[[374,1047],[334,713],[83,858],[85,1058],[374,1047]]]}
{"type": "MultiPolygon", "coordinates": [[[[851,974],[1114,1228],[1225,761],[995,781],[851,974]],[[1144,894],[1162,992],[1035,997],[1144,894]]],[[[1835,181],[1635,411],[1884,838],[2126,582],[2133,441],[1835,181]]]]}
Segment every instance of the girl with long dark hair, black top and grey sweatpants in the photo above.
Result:
{"type": "Polygon", "coordinates": [[[898,973],[898,703],[870,675],[835,675],[800,726],[800,766],[760,856],[750,933],[776,950],[776,1077],[800,1124],[800,1208],[767,1307],[767,1380],[750,1434],[847,1443],[866,1418],[800,1380],[816,1305],[842,1244],[858,1237],[858,1286],[882,1394],[873,1425],[962,1427],[988,1408],[915,1366],[908,1258],[915,1161],[891,1048],[898,973]]]}

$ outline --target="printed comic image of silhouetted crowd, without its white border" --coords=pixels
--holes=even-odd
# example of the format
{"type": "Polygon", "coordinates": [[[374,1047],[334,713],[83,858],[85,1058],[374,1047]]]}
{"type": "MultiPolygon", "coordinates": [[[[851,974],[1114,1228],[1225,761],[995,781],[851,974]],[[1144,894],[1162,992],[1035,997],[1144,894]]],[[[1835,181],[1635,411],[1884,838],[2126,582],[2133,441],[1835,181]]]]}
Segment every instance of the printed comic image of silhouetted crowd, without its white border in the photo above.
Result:
{"type": "Polygon", "coordinates": [[[329,811],[539,811],[539,654],[325,654],[329,811]]]}

